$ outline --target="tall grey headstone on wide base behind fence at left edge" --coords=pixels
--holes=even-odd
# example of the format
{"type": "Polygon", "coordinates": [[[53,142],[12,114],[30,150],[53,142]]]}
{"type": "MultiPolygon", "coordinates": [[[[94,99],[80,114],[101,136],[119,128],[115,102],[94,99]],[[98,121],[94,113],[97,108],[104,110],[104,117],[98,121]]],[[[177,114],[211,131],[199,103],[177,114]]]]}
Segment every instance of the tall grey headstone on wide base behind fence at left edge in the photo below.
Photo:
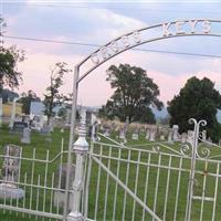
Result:
{"type": "Polygon", "coordinates": [[[3,148],[2,182],[0,183],[0,198],[19,199],[24,197],[24,191],[17,187],[20,169],[21,148],[7,145],[3,148]]]}

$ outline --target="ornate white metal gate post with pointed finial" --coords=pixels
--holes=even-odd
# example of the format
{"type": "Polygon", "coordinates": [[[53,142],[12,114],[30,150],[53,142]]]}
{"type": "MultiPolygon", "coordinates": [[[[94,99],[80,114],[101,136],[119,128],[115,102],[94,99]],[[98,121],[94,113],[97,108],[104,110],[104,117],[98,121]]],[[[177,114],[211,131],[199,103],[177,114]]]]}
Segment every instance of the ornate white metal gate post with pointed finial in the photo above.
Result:
{"type": "Polygon", "coordinates": [[[81,212],[82,190],[84,187],[84,160],[88,151],[88,143],[86,141],[86,112],[82,110],[81,123],[78,128],[78,138],[74,143],[73,151],[76,155],[76,168],[73,182],[73,207],[67,214],[67,221],[82,221],[83,214],[81,212]]]}

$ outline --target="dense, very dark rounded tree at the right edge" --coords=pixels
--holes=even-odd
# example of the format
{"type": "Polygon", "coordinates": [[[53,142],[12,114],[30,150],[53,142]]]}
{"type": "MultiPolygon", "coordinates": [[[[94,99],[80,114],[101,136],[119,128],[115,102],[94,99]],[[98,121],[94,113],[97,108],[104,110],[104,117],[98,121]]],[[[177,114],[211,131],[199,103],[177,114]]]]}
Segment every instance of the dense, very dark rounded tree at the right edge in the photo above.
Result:
{"type": "Polygon", "coordinates": [[[183,133],[191,128],[189,118],[206,119],[209,136],[217,140],[217,129],[220,127],[215,117],[218,108],[221,108],[221,95],[214,90],[214,83],[207,77],[199,80],[193,76],[187,81],[179,94],[168,102],[170,125],[179,125],[179,131],[183,133]]]}

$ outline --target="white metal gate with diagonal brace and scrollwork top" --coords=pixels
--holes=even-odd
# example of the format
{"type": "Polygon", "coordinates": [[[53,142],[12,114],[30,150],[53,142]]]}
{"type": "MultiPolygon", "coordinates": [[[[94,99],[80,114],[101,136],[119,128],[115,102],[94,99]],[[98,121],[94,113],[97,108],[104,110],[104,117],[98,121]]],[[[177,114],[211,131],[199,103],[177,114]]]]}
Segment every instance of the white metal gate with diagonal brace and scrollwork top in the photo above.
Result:
{"type": "Polygon", "coordinates": [[[127,147],[107,137],[105,143],[94,141],[84,215],[93,220],[219,220],[221,147],[201,139],[199,127],[204,122],[191,122],[191,145],[127,147]]]}

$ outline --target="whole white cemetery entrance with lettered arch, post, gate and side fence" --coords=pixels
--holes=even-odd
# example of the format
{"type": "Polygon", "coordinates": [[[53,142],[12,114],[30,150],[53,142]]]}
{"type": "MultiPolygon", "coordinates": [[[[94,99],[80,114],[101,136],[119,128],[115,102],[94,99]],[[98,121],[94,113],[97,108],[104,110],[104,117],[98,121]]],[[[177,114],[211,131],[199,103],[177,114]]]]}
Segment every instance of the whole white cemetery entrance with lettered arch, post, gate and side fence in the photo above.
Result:
{"type": "Polygon", "coordinates": [[[21,148],[7,146],[0,156],[0,209],[67,221],[219,219],[221,155],[219,146],[202,139],[200,125],[206,122],[190,119],[192,141],[181,147],[164,143],[129,147],[101,134],[104,141],[92,140],[88,148],[84,114],[75,143],[74,134],[80,82],[96,67],[148,42],[221,36],[220,24],[220,20],[194,19],[136,30],[77,64],[69,150],[62,143],[57,155],[50,158],[48,152],[42,159],[35,150],[28,158],[21,148]]]}

